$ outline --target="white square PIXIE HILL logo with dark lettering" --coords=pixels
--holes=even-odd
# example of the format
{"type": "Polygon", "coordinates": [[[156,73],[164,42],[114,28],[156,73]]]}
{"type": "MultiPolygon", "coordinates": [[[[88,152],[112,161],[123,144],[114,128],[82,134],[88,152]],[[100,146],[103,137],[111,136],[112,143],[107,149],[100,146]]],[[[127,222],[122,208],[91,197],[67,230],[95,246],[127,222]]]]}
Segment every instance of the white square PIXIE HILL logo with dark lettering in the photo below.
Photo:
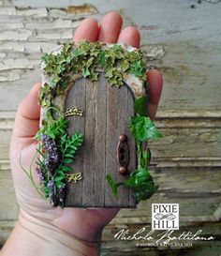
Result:
{"type": "Polygon", "coordinates": [[[179,230],[179,203],[152,203],[152,230],[179,230]]]}

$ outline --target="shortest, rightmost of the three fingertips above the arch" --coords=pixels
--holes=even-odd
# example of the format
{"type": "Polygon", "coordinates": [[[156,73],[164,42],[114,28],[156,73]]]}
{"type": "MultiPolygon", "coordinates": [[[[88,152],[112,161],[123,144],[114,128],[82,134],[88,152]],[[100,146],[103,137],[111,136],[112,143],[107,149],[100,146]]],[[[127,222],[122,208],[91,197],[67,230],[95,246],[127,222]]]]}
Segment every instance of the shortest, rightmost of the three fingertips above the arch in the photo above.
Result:
{"type": "Polygon", "coordinates": [[[134,26],[127,26],[121,32],[118,42],[131,45],[135,48],[140,47],[140,32],[134,26]]]}

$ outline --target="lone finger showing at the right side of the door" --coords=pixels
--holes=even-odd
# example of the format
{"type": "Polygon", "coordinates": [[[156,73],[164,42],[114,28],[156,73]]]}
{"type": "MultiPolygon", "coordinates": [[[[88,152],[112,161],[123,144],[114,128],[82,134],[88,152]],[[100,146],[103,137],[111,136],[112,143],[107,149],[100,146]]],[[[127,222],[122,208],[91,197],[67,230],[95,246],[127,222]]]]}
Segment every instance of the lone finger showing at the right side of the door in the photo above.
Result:
{"type": "Polygon", "coordinates": [[[150,85],[149,89],[149,115],[152,120],[155,119],[155,113],[159,103],[159,98],[163,87],[163,78],[160,72],[156,69],[151,69],[146,73],[147,82],[150,85]]]}

